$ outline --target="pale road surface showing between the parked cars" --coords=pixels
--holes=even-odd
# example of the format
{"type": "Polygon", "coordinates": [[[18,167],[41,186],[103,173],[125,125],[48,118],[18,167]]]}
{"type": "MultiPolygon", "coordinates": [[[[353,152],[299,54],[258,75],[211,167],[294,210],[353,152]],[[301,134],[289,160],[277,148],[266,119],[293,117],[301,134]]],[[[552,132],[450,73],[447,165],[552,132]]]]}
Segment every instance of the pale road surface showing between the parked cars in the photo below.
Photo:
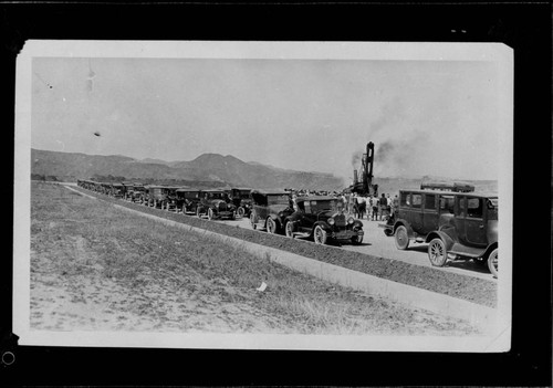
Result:
{"type": "MultiPolygon", "coordinates": [[[[363,239],[363,244],[361,245],[351,245],[351,244],[336,244],[341,247],[341,249],[355,251],[359,253],[367,253],[375,256],[393,259],[393,260],[401,260],[411,264],[422,265],[422,266],[431,266],[430,261],[428,260],[427,247],[426,243],[414,243],[411,242],[409,248],[405,251],[400,251],[396,248],[394,243],[393,237],[386,237],[384,234],[384,229],[378,228],[378,223],[383,221],[368,221],[362,220],[365,231],[365,237],[363,239]]],[[[240,228],[251,229],[250,222],[248,219],[242,220],[218,220],[213,222],[222,222],[231,226],[239,226],[240,228]]],[[[260,231],[260,233],[264,233],[260,231]]],[[[488,268],[486,265],[480,265],[474,263],[471,260],[456,260],[448,261],[447,266],[436,268],[440,271],[448,271],[460,273],[463,275],[486,279],[495,282],[497,280],[490,274],[488,268]]]]}

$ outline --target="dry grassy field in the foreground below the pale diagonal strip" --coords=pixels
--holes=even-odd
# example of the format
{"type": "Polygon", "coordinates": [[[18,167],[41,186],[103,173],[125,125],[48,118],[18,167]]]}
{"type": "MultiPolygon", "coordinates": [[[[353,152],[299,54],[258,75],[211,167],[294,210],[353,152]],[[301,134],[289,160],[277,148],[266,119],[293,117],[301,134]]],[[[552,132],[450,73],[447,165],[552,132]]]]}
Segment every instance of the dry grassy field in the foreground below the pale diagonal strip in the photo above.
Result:
{"type": "Polygon", "coordinates": [[[33,183],[31,195],[33,328],[476,334],[465,322],[319,281],[62,186],[33,183]],[[257,291],[262,282],[267,290],[257,291]]]}

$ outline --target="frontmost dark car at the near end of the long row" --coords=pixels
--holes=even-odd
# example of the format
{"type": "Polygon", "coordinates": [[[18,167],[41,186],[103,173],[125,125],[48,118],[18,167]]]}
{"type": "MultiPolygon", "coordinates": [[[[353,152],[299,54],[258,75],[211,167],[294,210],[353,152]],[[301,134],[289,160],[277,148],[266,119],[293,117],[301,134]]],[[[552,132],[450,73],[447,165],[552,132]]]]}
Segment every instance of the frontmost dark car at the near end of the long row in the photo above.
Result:
{"type": "Polygon", "coordinates": [[[347,240],[353,244],[363,242],[363,223],[346,217],[338,198],[327,196],[299,197],[298,210],[288,217],[288,237],[313,238],[316,244],[325,244],[328,239],[347,240]]]}

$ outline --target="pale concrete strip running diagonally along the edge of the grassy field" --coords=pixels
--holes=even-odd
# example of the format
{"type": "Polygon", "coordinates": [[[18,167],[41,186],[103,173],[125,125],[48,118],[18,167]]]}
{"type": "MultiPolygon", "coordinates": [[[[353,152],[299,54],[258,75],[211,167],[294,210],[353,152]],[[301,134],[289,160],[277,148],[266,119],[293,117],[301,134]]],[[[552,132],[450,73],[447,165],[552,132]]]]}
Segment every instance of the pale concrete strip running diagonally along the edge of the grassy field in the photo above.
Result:
{"type": "MultiPolygon", "coordinates": [[[[70,187],[67,189],[82,193],[70,187]]],[[[86,197],[85,193],[82,193],[86,197]]],[[[95,197],[92,197],[95,198],[95,197]]],[[[112,203],[115,208],[134,212],[142,217],[161,222],[167,226],[177,227],[202,235],[218,239],[225,243],[236,245],[244,251],[258,256],[269,256],[271,261],[285,265],[295,271],[300,271],[319,279],[349,286],[355,290],[366,292],[371,295],[388,298],[401,303],[411,308],[422,308],[436,314],[447,315],[458,319],[468,321],[470,324],[488,332],[493,329],[498,319],[498,311],[468,301],[459,300],[449,295],[439,294],[428,290],[418,289],[411,285],[393,282],[366,273],[348,270],[338,265],[324,263],[317,260],[304,258],[295,253],[285,252],[275,248],[270,248],[228,235],[211,232],[205,229],[191,227],[167,220],[154,214],[143,213],[138,210],[129,209],[121,205],[112,203]]]]}

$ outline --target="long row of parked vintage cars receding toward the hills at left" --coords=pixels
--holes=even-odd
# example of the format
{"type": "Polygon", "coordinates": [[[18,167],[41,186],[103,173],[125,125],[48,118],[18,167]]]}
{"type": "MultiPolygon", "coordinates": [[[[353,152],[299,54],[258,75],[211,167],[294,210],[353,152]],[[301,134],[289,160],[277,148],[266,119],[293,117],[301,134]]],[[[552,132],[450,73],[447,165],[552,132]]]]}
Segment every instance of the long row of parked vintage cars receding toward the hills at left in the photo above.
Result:
{"type": "Polygon", "coordinates": [[[317,244],[330,240],[363,242],[363,223],[342,211],[342,201],[332,196],[299,197],[290,191],[197,190],[132,182],[96,182],[77,180],[77,186],[135,203],[209,220],[248,217],[252,229],[290,238],[307,237],[317,244]]]}

